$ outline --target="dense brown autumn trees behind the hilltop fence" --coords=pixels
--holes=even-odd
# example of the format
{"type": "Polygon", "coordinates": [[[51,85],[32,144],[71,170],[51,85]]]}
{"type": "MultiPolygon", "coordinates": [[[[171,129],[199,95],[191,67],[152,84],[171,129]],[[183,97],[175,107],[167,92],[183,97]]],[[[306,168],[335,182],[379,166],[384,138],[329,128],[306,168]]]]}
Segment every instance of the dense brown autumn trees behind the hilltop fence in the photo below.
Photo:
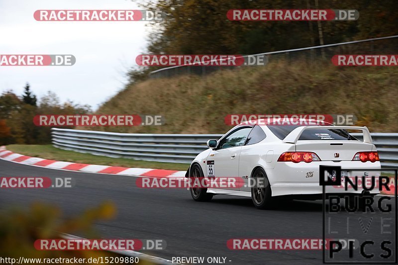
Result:
{"type": "Polygon", "coordinates": [[[311,45],[391,36],[397,0],[133,0],[161,10],[151,23],[147,50],[151,54],[255,54],[311,45]],[[317,3],[319,2],[319,6],[317,3]],[[322,21],[322,34],[308,21],[229,21],[229,9],[357,9],[356,21],[322,21]]]}

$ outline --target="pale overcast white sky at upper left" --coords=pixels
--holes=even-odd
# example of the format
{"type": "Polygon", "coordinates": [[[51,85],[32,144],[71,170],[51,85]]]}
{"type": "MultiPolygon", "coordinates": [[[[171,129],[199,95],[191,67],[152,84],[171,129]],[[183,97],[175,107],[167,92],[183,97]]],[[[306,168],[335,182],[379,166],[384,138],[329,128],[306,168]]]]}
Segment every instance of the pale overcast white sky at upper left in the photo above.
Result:
{"type": "Polygon", "coordinates": [[[142,9],[131,0],[0,0],[0,54],[72,54],[73,66],[0,66],[0,93],[26,82],[93,109],[124,87],[145,51],[144,21],[36,21],[38,9],[142,9]]]}

